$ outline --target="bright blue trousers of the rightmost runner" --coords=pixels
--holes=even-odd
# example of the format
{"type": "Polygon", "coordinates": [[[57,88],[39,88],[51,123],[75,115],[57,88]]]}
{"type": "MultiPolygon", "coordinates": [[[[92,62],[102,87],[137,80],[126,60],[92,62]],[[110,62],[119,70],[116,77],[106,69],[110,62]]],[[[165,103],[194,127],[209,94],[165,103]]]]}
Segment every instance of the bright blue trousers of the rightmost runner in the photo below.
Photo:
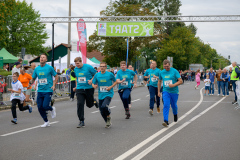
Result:
{"type": "Polygon", "coordinates": [[[177,113],[178,113],[178,107],[177,107],[178,94],[177,93],[168,93],[168,92],[164,91],[162,96],[163,96],[163,101],[164,101],[163,117],[164,117],[164,121],[168,121],[170,104],[172,107],[173,115],[177,115],[177,113]]]}

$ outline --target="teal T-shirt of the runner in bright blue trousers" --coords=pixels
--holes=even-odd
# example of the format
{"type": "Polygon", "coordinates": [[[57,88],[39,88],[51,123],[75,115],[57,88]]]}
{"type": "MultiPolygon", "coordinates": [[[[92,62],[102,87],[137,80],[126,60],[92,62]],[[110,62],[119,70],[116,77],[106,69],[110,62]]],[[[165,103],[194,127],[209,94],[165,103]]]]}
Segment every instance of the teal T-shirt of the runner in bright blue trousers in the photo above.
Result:
{"type": "Polygon", "coordinates": [[[160,72],[159,79],[163,81],[163,92],[179,94],[178,86],[170,88],[169,84],[174,84],[180,78],[179,72],[175,68],[170,68],[169,71],[165,69],[160,72]]]}

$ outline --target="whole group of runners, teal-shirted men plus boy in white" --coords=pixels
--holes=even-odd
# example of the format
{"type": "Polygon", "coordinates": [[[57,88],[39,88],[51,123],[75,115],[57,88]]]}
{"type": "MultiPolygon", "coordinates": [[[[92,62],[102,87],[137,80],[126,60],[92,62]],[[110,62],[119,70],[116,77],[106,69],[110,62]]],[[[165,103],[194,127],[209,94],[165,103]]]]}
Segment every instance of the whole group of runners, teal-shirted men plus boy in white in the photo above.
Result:
{"type": "MultiPolygon", "coordinates": [[[[41,127],[50,126],[48,120],[48,111],[51,112],[52,118],[56,117],[56,108],[53,107],[52,94],[55,90],[55,85],[58,81],[58,75],[54,68],[48,64],[47,55],[42,54],[40,56],[40,65],[35,68],[32,79],[29,82],[31,85],[36,79],[38,79],[38,90],[37,90],[37,107],[41,117],[44,120],[44,124],[41,127]],[[54,78],[53,78],[54,77],[54,78]]],[[[85,127],[84,117],[84,105],[91,108],[94,105],[99,108],[100,113],[106,123],[106,128],[111,127],[111,110],[109,108],[111,99],[114,95],[113,87],[118,84],[118,94],[122,100],[123,107],[125,110],[126,119],[131,117],[130,107],[131,106],[131,91],[137,87],[137,75],[132,70],[132,66],[127,64],[125,61],[120,62],[120,70],[117,72],[116,77],[111,72],[108,72],[107,64],[105,62],[100,63],[100,72],[97,71],[89,64],[83,64],[81,57],[74,59],[75,69],[71,72],[71,76],[76,78],[76,87],[73,91],[77,95],[77,115],[79,124],[77,128],[85,127]],[[94,99],[94,89],[98,89],[98,101],[94,99]]],[[[149,102],[149,113],[153,115],[154,103],[157,103],[157,111],[160,113],[160,97],[163,99],[163,126],[169,125],[168,115],[170,105],[172,107],[174,121],[178,120],[178,107],[177,100],[179,95],[178,86],[182,84],[182,79],[179,72],[170,67],[168,60],[163,61],[163,70],[157,68],[157,63],[153,61],[151,67],[145,72],[144,78],[147,79],[149,86],[150,102],[149,102]],[[161,89],[162,88],[162,89],[161,89]],[[156,100],[155,100],[156,98],[156,100]]],[[[21,105],[24,97],[14,97],[15,95],[21,94],[23,87],[17,81],[18,73],[13,73],[12,92],[13,98],[16,100],[18,106],[21,105]],[[15,85],[15,84],[18,84],[15,85]],[[17,87],[16,87],[17,86],[17,87]]],[[[15,101],[15,100],[14,100],[15,101]]],[[[14,102],[12,101],[12,102],[14,102]]],[[[14,102],[16,103],[16,102],[14,102]]],[[[12,107],[13,108],[13,107],[12,107]]],[[[32,112],[31,107],[21,107],[20,110],[29,109],[32,112]]],[[[15,111],[16,112],[16,111],[15,111]]],[[[16,118],[13,114],[13,118],[16,118]]]]}

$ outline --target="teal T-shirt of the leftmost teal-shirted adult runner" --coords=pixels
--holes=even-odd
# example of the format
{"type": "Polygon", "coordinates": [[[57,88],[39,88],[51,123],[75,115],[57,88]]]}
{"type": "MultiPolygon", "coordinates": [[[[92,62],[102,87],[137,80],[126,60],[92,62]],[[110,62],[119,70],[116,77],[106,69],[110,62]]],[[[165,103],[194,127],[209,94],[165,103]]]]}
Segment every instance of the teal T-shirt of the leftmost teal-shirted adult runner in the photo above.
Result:
{"type": "Polygon", "coordinates": [[[54,68],[48,64],[35,68],[32,78],[38,78],[38,92],[53,92],[51,87],[53,86],[52,76],[56,76],[54,68]]]}

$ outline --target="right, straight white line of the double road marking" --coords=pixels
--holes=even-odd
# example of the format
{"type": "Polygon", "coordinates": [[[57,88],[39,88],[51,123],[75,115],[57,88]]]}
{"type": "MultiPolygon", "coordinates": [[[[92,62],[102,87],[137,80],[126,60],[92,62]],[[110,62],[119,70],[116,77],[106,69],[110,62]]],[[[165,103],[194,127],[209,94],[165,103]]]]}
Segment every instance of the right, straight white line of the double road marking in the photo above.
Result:
{"type": "Polygon", "coordinates": [[[153,149],[155,149],[156,147],[158,147],[160,144],[162,144],[164,141],[168,140],[170,137],[172,137],[174,134],[176,134],[178,131],[182,130],[183,128],[185,128],[186,126],[188,126],[190,123],[192,123],[193,121],[195,121],[196,119],[198,119],[199,117],[201,117],[202,115],[204,115],[205,113],[207,113],[210,109],[212,109],[213,107],[215,107],[216,105],[218,105],[221,101],[223,101],[226,97],[223,97],[222,99],[220,99],[218,102],[214,103],[212,106],[210,106],[209,108],[205,109],[203,112],[199,113],[198,115],[196,115],[195,117],[193,117],[191,120],[185,122],[184,124],[182,124],[181,126],[179,126],[178,128],[174,129],[172,132],[168,133],[166,136],[162,137],[161,139],[159,139],[157,142],[155,142],[154,144],[152,144],[150,147],[148,147],[147,149],[145,149],[144,151],[142,151],[141,153],[139,153],[137,156],[135,156],[132,160],[139,160],[142,159],[143,157],[145,157],[148,153],[150,153],[153,149]]]}

